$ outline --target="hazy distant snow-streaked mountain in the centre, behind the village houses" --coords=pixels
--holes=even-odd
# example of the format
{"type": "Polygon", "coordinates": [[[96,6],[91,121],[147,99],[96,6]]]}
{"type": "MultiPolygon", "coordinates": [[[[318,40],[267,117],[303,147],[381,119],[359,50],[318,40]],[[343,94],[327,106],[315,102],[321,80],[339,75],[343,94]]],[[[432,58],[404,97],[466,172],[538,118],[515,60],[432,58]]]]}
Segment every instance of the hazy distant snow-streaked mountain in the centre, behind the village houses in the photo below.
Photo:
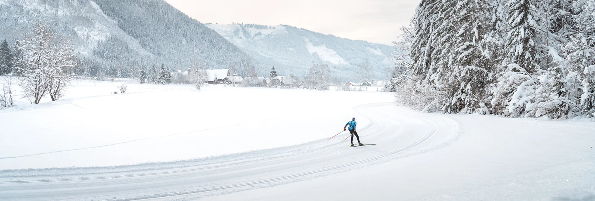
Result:
{"type": "Polygon", "coordinates": [[[394,48],[388,45],[343,39],[287,25],[207,23],[206,26],[262,65],[274,66],[280,74],[305,75],[312,64],[325,63],[333,68],[334,76],[355,80],[360,71],[358,66],[367,61],[374,78],[380,79],[386,78],[386,69],[394,65],[390,59],[394,48]]]}

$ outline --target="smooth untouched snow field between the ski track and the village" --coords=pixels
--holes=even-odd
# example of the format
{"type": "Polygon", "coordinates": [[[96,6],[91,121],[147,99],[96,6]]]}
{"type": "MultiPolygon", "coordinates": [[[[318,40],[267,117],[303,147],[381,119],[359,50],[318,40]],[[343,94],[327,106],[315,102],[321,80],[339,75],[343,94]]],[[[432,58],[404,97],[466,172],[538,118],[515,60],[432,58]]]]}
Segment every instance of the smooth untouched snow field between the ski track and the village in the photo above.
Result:
{"type": "Polygon", "coordinates": [[[79,81],[62,101],[45,99],[35,109],[21,101],[0,111],[0,169],[129,165],[297,145],[335,133],[356,115],[353,106],[392,101],[376,92],[339,101],[355,92],[224,85],[129,84],[127,93],[112,94],[120,84],[79,81]]]}

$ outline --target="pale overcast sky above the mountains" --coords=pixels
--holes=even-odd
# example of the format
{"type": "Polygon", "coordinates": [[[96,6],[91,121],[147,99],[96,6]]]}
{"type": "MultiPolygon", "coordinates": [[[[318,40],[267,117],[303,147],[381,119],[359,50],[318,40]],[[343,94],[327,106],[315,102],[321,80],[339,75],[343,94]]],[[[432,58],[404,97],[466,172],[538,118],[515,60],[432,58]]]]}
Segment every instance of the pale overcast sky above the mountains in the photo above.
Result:
{"type": "Polygon", "coordinates": [[[287,24],[391,45],[420,0],[165,0],[201,23],[287,24]]]}

